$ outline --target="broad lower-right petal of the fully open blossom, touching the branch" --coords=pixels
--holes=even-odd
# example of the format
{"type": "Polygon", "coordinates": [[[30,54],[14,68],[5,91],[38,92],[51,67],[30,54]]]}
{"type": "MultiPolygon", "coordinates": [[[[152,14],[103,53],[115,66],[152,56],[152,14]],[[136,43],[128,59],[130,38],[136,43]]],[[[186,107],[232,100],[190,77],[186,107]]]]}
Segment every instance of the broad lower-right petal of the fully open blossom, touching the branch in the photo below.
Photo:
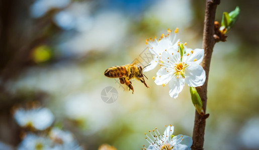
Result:
{"type": "Polygon", "coordinates": [[[206,79],[203,67],[197,63],[191,63],[185,68],[185,82],[192,87],[202,86],[206,79]]]}

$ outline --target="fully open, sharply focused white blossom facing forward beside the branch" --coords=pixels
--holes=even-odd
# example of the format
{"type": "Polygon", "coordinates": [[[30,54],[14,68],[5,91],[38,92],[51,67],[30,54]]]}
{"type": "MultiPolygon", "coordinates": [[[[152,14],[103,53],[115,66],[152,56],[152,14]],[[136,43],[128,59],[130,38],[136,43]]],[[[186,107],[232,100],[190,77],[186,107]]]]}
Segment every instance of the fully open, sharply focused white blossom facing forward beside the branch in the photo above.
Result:
{"type": "Polygon", "coordinates": [[[155,83],[163,86],[169,83],[169,95],[173,98],[178,97],[185,83],[192,87],[202,86],[206,79],[200,65],[203,56],[204,49],[193,50],[187,48],[186,43],[178,42],[178,48],[164,49],[157,61],[161,68],[156,73],[155,83]]]}

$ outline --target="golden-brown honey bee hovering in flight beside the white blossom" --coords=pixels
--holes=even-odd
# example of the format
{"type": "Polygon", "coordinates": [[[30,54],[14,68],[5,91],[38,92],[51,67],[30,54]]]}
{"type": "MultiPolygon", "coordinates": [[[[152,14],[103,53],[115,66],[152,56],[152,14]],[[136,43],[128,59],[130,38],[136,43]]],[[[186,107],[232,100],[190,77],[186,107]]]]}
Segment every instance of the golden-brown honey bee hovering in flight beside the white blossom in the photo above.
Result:
{"type": "Polygon", "coordinates": [[[143,68],[144,67],[142,67],[141,65],[137,65],[136,63],[112,66],[112,67],[106,69],[106,71],[104,72],[104,75],[108,76],[108,77],[119,77],[120,83],[121,84],[125,83],[129,87],[129,90],[131,89],[132,93],[133,93],[134,89],[133,89],[132,83],[130,81],[131,78],[135,77],[136,79],[138,79],[142,83],[144,83],[147,88],[149,87],[149,86],[147,86],[145,79],[144,79],[145,75],[143,74],[143,68]]]}

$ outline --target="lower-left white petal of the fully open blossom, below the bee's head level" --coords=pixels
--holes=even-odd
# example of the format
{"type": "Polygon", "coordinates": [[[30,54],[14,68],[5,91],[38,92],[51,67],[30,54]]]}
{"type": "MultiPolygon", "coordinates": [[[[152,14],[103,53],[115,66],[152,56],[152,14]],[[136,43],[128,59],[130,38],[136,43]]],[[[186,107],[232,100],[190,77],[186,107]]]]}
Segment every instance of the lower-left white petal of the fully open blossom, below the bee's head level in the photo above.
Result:
{"type": "Polygon", "coordinates": [[[160,68],[156,73],[155,83],[157,85],[167,84],[172,78],[172,73],[174,72],[167,72],[166,69],[160,68]]]}

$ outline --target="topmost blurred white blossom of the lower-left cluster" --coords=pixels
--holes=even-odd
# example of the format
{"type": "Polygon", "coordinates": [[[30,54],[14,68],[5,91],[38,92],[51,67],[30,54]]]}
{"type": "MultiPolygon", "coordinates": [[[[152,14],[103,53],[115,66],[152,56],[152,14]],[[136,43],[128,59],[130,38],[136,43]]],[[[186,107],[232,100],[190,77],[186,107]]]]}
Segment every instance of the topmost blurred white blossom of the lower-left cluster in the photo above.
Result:
{"type": "Polygon", "coordinates": [[[44,130],[54,121],[54,115],[48,108],[18,108],[14,113],[15,120],[20,126],[44,130]]]}

